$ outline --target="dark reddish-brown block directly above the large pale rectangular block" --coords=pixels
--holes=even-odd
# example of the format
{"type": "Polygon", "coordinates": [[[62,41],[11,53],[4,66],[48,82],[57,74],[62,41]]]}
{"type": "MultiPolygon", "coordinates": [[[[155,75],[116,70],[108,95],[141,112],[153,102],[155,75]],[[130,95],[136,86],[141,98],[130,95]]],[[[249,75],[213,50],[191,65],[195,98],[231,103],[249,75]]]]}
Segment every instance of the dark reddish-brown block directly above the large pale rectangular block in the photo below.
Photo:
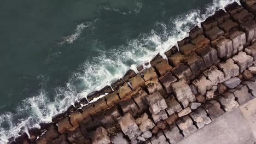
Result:
{"type": "Polygon", "coordinates": [[[193,80],[195,78],[189,67],[187,65],[184,65],[183,63],[174,67],[172,69],[172,74],[178,77],[179,80],[184,79],[188,83],[190,82],[190,80],[193,80]]]}

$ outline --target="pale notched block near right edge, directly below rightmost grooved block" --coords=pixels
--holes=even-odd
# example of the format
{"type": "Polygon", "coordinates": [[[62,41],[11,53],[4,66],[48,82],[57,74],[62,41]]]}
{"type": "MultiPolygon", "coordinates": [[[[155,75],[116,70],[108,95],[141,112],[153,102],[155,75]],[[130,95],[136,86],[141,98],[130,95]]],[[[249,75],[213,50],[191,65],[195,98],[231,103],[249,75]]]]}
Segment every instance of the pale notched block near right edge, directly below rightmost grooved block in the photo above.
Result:
{"type": "Polygon", "coordinates": [[[253,65],[253,57],[246,55],[245,52],[239,52],[238,55],[232,57],[233,61],[239,66],[240,72],[253,65]]]}

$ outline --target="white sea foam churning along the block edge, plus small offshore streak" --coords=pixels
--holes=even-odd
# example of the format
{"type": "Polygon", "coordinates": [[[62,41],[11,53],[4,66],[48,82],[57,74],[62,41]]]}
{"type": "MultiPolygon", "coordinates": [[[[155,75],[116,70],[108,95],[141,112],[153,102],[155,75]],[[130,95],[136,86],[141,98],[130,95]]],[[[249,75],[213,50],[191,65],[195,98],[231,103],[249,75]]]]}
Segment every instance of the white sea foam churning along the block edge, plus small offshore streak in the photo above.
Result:
{"type": "MultiPolygon", "coordinates": [[[[191,10],[187,14],[170,19],[170,23],[156,22],[155,26],[163,29],[158,33],[154,29],[149,34],[141,34],[138,39],[131,40],[128,46],[120,46],[119,51],[110,51],[111,57],[102,55],[94,57],[92,62],[81,66],[80,73],[74,73],[67,82],[66,87],[56,88],[54,100],[46,97],[42,91],[39,95],[23,101],[16,113],[4,113],[0,116],[0,143],[7,143],[11,136],[18,136],[20,129],[27,131],[27,127],[38,127],[40,122],[50,122],[51,118],[59,112],[67,109],[75,100],[86,97],[92,91],[110,85],[119,79],[127,69],[136,69],[137,65],[149,62],[157,53],[163,55],[170,46],[176,45],[178,40],[188,35],[189,29],[199,25],[214,11],[224,8],[228,3],[238,0],[214,0],[207,5],[202,14],[199,10],[191,10]],[[72,83],[79,82],[74,86],[72,83]],[[78,89],[82,89],[78,91],[78,89]],[[25,113],[26,116],[20,116],[25,113]],[[14,123],[15,122],[15,123],[14,123]],[[8,127],[3,127],[8,125],[8,127]]],[[[67,43],[73,43],[82,33],[86,25],[80,24],[75,33],[67,39],[67,43]]]]}

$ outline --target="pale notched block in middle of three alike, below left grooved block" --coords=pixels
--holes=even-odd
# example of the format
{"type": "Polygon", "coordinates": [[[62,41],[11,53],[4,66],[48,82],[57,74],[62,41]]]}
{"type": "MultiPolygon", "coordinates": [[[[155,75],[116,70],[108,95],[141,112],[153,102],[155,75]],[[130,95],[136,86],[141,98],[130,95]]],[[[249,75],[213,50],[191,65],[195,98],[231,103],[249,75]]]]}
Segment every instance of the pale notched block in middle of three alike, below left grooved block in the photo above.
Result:
{"type": "Polygon", "coordinates": [[[239,75],[239,67],[231,58],[226,60],[226,62],[219,63],[218,66],[223,71],[226,81],[231,77],[239,75]]]}

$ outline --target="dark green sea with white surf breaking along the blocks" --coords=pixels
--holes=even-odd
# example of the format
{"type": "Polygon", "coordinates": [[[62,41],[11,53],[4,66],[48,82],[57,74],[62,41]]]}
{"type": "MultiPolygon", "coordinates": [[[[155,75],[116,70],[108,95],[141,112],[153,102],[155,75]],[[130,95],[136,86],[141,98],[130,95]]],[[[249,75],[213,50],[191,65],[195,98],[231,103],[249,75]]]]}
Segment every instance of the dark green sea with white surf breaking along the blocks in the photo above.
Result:
{"type": "Polygon", "coordinates": [[[163,55],[234,1],[4,0],[0,143],[163,55]]]}

